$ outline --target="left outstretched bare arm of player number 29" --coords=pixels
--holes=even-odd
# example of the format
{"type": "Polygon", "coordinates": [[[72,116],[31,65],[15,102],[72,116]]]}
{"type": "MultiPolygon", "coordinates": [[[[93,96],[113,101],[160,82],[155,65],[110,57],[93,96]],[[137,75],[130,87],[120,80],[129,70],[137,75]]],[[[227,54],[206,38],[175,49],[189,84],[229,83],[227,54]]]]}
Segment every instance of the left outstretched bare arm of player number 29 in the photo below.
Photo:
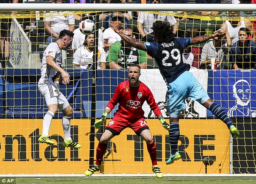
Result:
{"type": "Polygon", "coordinates": [[[131,46],[139,50],[147,51],[143,42],[139,42],[138,40],[136,40],[136,38],[131,38],[130,36],[127,36],[124,33],[122,33],[117,23],[111,22],[109,23],[109,26],[113,27],[114,31],[118,33],[126,43],[130,44],[131,46]]]}

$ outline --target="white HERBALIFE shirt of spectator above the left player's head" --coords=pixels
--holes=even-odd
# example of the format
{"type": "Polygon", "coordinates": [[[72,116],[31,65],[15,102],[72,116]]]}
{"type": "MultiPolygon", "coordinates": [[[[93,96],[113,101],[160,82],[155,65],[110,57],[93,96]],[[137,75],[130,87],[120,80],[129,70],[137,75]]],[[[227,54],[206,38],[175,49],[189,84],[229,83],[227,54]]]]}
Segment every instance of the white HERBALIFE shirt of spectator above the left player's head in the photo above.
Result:
{"type": "Polygon", "coordinates": [[[69,30],[69,25],[75,24],[75,16],[74,15],[63,15],[63,12],[55,12],[50,11],[49,13],[45,13],[45,15],[50,17],[44,17],[44,21],[50,21],[50,28],[59,34],[63,29],[69,30]]]}

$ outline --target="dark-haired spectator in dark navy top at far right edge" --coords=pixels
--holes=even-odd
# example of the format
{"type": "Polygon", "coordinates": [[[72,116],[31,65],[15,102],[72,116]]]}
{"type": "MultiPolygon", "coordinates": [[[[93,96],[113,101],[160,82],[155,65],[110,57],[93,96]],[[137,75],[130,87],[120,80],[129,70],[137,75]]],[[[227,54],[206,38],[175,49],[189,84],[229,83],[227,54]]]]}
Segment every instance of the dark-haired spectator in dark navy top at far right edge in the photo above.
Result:
{"type": "Polygon", "coordinates": [[[256,43],[248,40],[250,31],[239,29],[239,40],[231,46],[230,62],[233,69],[256,69],[256,43]]]}

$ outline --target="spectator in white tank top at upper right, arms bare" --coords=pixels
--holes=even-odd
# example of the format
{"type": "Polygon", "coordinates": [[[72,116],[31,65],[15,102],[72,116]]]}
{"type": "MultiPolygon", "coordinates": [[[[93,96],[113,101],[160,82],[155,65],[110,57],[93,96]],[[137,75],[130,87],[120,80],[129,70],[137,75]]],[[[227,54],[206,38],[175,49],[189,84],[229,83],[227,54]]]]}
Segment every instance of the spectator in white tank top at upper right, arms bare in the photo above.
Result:
{"type": "MultiPolygon", "coordinates": [[[[239,16],[240,12],[229,12],[230,17],[239,16]]],[[[246,27],[252,36],[252,41],[256,42],[256,34],[255,29],[252,25],[251,21],[243,21],[243,20],[231,20],[231,21],[225,21],[221,25],[222,29],[226,31],[226,38],[227,38],[227,45],[231,46],[235,42],[237,42],[238,39],[238,31],[241,27],[246,27]]]]}

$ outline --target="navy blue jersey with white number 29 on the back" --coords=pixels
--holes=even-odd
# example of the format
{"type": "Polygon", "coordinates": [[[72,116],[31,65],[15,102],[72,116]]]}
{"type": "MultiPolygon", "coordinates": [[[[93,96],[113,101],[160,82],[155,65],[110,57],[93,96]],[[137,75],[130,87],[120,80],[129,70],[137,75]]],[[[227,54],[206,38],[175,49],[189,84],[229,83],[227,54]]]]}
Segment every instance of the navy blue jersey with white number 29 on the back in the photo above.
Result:
{"type": "Polygon", "coordinates": [[[180,74],[189,71],[190,65],[183,63],[184,48],[191,44],[191,38],[175,38],[170,42],[146,42],[147,53],[155,58],[166,84],[174,81],[180,74]]]}

